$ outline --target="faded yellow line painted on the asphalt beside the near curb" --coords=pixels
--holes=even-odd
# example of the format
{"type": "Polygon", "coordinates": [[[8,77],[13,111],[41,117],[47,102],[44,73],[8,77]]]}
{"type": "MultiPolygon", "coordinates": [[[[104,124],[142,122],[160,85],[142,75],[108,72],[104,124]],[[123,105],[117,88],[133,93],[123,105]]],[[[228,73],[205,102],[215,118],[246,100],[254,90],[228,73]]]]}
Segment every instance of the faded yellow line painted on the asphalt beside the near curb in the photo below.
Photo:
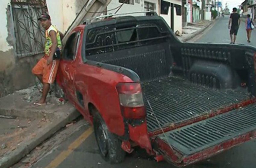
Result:
{"type": "Polygon", "coordinates": [[[76,149],[78,146],[80,146],[81,143],[83,143],[83,141],[86,140],[86,138],[88,138],[92,134],[92,132],[93,132],[92,127],[88,128],[82,135],[80,135],[80,137],[78,137],[73,143],[71,143],[68,146],[67,150],[61,152],[45,168],[55,168],[55,167],[58,167],[68,157],[68,155],[70,155],[73,152],[74,149],[76,149]]]}

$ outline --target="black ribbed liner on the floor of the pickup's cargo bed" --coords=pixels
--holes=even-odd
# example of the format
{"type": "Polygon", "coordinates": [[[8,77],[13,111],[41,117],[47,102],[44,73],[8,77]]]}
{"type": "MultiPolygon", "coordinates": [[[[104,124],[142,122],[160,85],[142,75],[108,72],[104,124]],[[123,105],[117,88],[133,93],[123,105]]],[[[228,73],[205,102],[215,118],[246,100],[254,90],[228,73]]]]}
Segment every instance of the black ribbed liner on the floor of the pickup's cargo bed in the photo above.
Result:
{"type": "Polygon", "coordinates": [[[176,77],[144,82],[142,87],[149,132],[249,99],[244,90],[217,90],[176,77]]]}

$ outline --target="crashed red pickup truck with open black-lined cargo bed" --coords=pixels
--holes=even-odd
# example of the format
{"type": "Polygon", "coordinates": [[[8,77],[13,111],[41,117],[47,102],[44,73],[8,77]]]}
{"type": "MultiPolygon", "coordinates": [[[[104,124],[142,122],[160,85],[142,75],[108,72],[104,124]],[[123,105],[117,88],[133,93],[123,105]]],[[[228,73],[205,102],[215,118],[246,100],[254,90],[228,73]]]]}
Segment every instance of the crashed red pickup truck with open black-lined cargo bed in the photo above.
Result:
{"type": "Polygon", "coordinates": [[[77,26],[57,83],[102,157],[134,146],[182,167],[256,137],[256,48],[180,42],[160,16],[77,26]]]}

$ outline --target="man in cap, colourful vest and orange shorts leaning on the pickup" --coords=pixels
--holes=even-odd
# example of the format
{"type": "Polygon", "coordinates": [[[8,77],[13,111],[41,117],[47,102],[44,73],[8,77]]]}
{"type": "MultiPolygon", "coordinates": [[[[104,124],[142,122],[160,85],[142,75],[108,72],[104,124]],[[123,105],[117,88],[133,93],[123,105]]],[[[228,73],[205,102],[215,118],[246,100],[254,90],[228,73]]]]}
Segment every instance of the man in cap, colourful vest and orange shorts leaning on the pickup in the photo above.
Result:
{"type": "Polygon", "coordinates": [[[61,33],[51,23],[48,14],[42,14],[38,20],[43,28],[45,28],[45,55],[41,58],[36,66],[32,69],[32,73],[42,82],[42,98],[34,104],[46,104],[46,97],[50,89],[50,84],[54,82],[58,70],[58,57],[61,50],[61,33]]]}

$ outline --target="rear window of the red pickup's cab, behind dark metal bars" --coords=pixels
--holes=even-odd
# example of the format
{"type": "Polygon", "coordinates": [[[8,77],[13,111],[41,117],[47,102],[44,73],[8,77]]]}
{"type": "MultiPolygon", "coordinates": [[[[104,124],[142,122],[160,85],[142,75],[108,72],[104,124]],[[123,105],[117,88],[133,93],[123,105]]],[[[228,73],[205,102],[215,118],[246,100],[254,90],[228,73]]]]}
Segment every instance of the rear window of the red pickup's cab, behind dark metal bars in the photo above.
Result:
{"type": "Polygon", "coordinates": [[[159,24],[159,21],[144,21],[128,26],[116,24],[89,29],[86,37],[86,55],[154,44],[170,37],[168,31],[164,22],[159,24]]]}

